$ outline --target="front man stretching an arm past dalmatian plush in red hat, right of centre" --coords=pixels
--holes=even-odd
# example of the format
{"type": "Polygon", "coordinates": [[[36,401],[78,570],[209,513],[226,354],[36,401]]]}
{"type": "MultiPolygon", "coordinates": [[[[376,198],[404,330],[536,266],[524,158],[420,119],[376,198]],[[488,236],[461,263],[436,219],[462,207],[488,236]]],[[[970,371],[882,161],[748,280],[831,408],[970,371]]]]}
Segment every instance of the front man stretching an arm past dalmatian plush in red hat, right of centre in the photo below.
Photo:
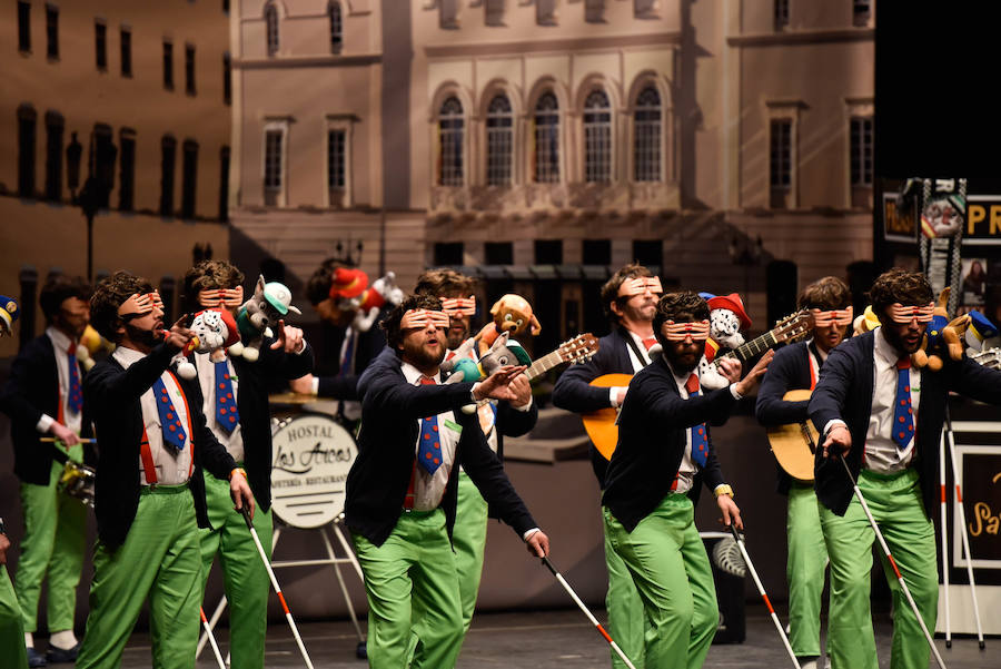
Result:
{"type": "Polygon", "coordinates": [[[663,355],[638,372],[618,417],[602,511],[605,534],[640,591],[650,629],[644,667],[702,667],[718,623],[712,567],[694,523],[701,485],[726,525],[743,528],[716,461],[708,423],[729,417],[753,391],[772,353],[741,381],[724,358],[727,387],[702,392],[696,366],[708,337],[708,305],[692,292],[661,297],[653,328],[663,355]]]}

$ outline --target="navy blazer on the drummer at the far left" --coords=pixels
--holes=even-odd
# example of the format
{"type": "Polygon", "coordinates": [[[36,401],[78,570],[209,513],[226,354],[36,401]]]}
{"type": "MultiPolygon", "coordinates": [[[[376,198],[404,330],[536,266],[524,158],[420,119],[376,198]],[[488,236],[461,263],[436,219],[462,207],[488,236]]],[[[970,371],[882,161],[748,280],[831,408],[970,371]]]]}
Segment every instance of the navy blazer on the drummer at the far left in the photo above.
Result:
{"type": "MultiPolygon", "coordinates": [[[[18,479],[23,483],[48,485],[54,446],[39,441],[43,435],[36,430],[36,425],[42,414],[52,419],[59,415],[59,372],[49,335],[43,333],[31,340],[18,353],[10,368],[10,377],[0,392],[0,411],[10,416],[18,479]]],[[[86,402],[82,419],[80,433],[89,436],[90,414],[86,402]]],[[[83,461],[91,466],[97,464],[91,444],[83,444],[83,461]]]]}

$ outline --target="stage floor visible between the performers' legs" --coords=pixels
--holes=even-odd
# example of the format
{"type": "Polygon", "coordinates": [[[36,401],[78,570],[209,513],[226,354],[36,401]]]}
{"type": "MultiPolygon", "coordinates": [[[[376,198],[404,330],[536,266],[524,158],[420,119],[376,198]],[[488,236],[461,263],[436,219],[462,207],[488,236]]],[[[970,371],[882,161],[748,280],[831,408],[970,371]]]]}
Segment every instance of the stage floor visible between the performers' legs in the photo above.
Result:
{"type": "MultiPolygon", "coordinates": [[[[595,613],[599,620],[604,620],[604,611],[595,613]]],[[[785,611],[779,613],[780,619],[785,620],[785,611]]],[[[790,667],[791,661],[764,607],[749,606],[746,616],[746,640],[739,645],[713,646],[705,667],[790,667]]],[[[357,638],[349,621],[308,622],[301,624],[300,630],[317,669],[358,669],[367,666],[355,658],[357,638]]],[[[889,617],[878,613],[876,646],[880,667],[890,666],[890,633],[889,617]]],[[[226,630],[219,633],[224,657],[226,634],[226,630]]],[[[1001,666],[1001,639],[989,638],[984,651],[978,649],[975,638],[954,638],[949,650],[945,649],[944,639],[936,639],[935,642],[950,669],[1001,666]]],[[[266,653],[266,665],[269,668],[304,666],[291,632],[284,624],[269,626],[266,653]]],[[[133,634],[126,649],[122,667],[149,667],[149,661],[148,634],[133,634]]],[[[460,669],[604,669],[608,666],[608,646],[578,610],[477,614],[458,661],[460,669]]],[[[202,652],[198,667],[218,667],[210,648],[202,652]]],[[[934,659],[930,667],[935,667],[934,659]]]]}

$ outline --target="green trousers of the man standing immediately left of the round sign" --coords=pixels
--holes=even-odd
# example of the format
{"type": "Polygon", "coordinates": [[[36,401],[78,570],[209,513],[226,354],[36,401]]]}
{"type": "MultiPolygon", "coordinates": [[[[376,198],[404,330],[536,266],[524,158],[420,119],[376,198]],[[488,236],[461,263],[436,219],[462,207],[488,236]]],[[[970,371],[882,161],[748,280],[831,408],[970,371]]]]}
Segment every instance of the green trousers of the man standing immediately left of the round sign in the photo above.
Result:
{"type": "MultiPolygon", "coordinates": [[[[215,476],[205,478],[212,529],[198,531],[201,543],[201,591],[208,581],[212,560],[219,557],[222,587],[229,601],[229,652],[231,665],[240,669],[264,667],[265,632],[268,628],[268,593],[271,589],[268,572],[254,545],[254,538],[244,515],[232,509],[229,482],[215,476]]],[[[254,512],[254,529],[260,544],[271,557],[271,511],[258,506],[254,512]]]]}

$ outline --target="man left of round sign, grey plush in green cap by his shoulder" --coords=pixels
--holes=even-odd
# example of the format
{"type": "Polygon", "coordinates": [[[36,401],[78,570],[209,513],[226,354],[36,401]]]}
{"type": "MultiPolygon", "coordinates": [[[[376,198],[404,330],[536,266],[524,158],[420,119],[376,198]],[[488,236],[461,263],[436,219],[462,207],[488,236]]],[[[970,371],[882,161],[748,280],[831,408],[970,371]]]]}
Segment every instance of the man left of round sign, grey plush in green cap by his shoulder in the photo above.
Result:
{"type": "MultiPolygon", "coordinates": [[[[236,316],[244,303],[244,273],[226,260],[205,260],[185,274],[184,296],[188,313],[205,308],[227,309],[236,316]]],[[[271,424],[268,387],[272,380],[287,381],[313,370],[313,350],[303,331],[279,321],[277,338],[265,337],[260,357],[248,362],[225,351],[192,354],[202,411],[209,429],[247,480],[257,512],[254,527],[267,554],[271,554],[271,424]],[[236,412],[232,411],[234,406],[236,412]],[[235,419],[235,420],[234,420],[235,419]]],[[[205,481],[211,528],[199,530],[202,591],[212,561],[219,555],[229,601],[230,656],[234,667],[264,667],[270,581],[240,513],[232,509],[229,485],[215,478],[205,481]]]]}

